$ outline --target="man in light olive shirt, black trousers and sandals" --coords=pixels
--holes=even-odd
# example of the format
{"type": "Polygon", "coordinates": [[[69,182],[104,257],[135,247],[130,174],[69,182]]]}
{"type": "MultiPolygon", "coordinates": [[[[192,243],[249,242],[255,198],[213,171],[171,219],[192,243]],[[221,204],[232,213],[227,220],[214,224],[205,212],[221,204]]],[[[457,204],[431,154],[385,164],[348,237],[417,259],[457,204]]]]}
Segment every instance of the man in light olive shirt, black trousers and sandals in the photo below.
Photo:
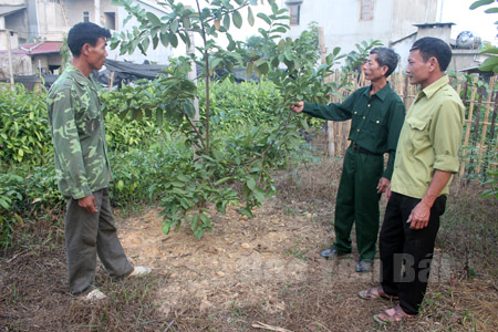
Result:
{"type": "Polygon", "coordinates": [[[421,91],[400,135],[388,203],[380,236],[382,286],[364,299],[400,299],[374,319],[398,322],[418,313],[429,278],[439,216],[453,174],[458,170],[465,107],[445,70],[449,46],[436,38],[417,40],[406,73],[421,91]]]}

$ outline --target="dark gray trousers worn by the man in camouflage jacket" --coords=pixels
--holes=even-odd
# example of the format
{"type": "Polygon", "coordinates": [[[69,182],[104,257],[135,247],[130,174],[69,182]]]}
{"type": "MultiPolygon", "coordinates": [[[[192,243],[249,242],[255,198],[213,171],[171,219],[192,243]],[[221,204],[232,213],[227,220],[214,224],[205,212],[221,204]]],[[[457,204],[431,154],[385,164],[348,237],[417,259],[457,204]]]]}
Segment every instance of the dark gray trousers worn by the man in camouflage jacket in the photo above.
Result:
{"type": "Polygon", "coordinates": [[[81,294],[92,287],[96,256],[113,278],[129,274],[133,267],[117,238],[107,188],[93,193],[97,212],[86,212],[77,199],[66,198],[65,250],[69,284],[72,294],[81,294]]]}

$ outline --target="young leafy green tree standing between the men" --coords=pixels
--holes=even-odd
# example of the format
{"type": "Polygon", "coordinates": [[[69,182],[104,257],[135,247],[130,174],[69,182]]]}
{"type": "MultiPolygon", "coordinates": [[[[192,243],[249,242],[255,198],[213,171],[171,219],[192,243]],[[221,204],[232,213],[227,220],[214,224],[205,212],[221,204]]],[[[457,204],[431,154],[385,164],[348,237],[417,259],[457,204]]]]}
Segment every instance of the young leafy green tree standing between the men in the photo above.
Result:
{"type": "MultiPolygon", "coordinates": [[[[241,203],[243,206],[239,212],[251,217],[252,209],[276,193],[271,172],[277,167],[281,153],[301,141],[298,128],[307,125],[303,116],[289,112],[288,105],[300,100],[325,103],[330,93],[346,85],[345,75],[339,84],[325,83],[332,66],[343,56],[339,55],[340,49],[334,49],[325,63],[317,65],[318,44],[309,32],[297,40],[282,39],[289,30],[289,17],[287,9],[280,9],[274,0],[268,0],[271,13],[256,15],[266,24],[266,28],[259,29],[258,49],[235,41],[228,32],[231,24],[240,28],[245,21],[251,25],[255,23],[251,6],[257,1],[205,0],[201,7],[196,0],[196,9],[191,9],[181,2],[167,0],[163,4],[169,8],[169,13],[160,18],[134,6],[132,0],[114,0],[114,3],[129,12],[126,20],[135,17],[139,22],[133,32],[114,35],[111,48],[120,46],[122,54],[131,53],[136,48],[146,53],[159,43],[176,48],[179,40],[188,45],[193,33],[199,34],[203,40],[203,44],[196,46],[199,58],[189,53],[177,59],[168,75],[158,79],[158,89],[167,102],[157,105],[156,115],[160,113],[159,118],[163,118],[163,113],[166,118],[181,117],[186,141],[197,151],[196,158],[189,165],[172,163],[174,180],[157,185],[164,193],[164,231],[189,221],[194,235],[200,238],[205,230],[211,229],[208,204],[225,212],[228,205],[241,203]],[[240,13],[242,8],[247,8],[246,19],[240,13]],[[226,49],[216,42],[216,38],[222,34],[228,40],[226,49]],[[187,79],[193,63],[204,69],[206,91],[200,122],[193,120],[197,87],[187,79]],[[273,111],[274,125],[271,129],[255,127],[231,139],[212,138],[210,75],[217,69],[232,72],[235,66],[240,65],[245,65],[248,73],[255,72],[271,80],[280,89],[282,103],[273,111]]],[[[344,72],[356,66],[375,44],[378,42],[359,44],[359,52],[346,61],[344,72]]],[[[152,113],[135,110],[135,113],[147,112],[152,113]]]]}

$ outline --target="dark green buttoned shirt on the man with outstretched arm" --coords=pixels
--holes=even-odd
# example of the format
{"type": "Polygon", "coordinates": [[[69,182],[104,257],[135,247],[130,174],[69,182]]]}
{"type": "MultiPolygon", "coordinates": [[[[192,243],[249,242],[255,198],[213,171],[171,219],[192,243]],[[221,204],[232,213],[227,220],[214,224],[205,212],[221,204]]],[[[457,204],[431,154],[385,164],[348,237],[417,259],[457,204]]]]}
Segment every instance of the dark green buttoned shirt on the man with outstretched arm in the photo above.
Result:
{"type": "Polygon", "coordinates": [[[354,91],[344,102],[329,105],[304,103],[303,112],[324,120],[351,121],[347,139],[375,154],[388,153],[382,177],[391,179],[405,105],[387,83],[370,96],[371,86],[354,91]]]}

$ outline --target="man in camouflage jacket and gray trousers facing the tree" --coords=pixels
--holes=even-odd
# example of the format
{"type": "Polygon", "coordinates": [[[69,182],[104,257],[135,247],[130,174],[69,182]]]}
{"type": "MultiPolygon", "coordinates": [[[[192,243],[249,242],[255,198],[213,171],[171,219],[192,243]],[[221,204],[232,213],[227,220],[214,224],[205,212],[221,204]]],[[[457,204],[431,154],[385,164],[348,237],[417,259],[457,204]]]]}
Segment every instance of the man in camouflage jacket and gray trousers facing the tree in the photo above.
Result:
{"type": "Polygon", "coordinates": [[[107,186],[111,168],[98,85],[91,76],[102,69],[108,30],[94,23],[74,25],[68,34],[73,61],[49,91],[49,121],[55,153],[55,176],[66,198],[65,247],[72,294],[83,300],[106,295],[93,286],[96,256],[113,278],[141,276],[116,235],[107,186]]]}

